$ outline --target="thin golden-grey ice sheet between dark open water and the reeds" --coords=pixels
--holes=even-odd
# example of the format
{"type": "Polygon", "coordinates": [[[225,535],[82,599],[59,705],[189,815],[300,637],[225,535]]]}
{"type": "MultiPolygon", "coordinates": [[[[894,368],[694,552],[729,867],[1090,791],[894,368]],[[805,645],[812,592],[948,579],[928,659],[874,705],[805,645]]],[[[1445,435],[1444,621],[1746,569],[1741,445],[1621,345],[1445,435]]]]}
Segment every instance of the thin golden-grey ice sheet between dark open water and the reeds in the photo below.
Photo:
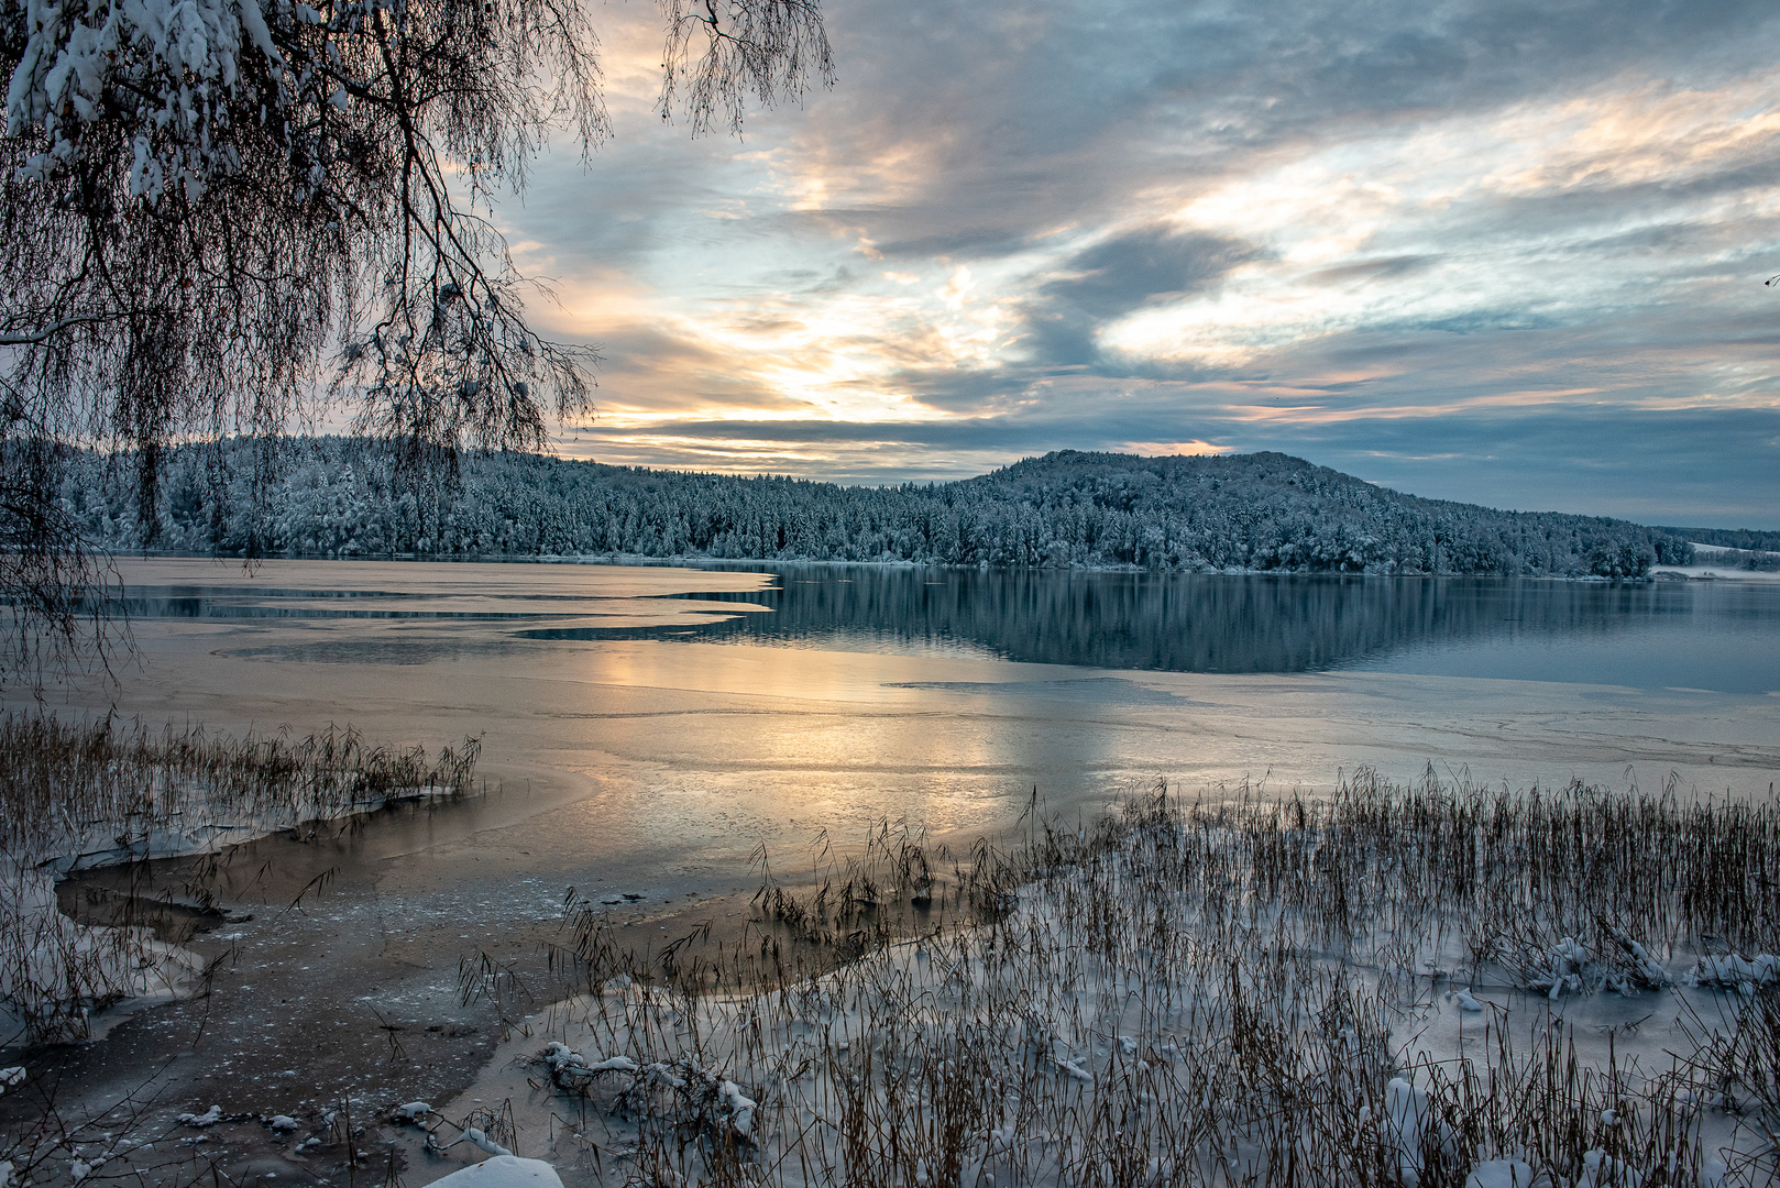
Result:
{"type": "MultiPolygon", "coordinates": [[[[417,590],[465,593],[454,577],[461,570],[436,568],[417,590]]],[[[383,584],[386,575],[326,566],[288,584],[313,590],[328,575],[340,575],[347,588],[399,590],[383,584]]],[[[513,577],[511,570],[495,574],[491,588],[545,593],[513,577]]],[[[634,572],[614,581],[639,591],[708,579],[634,572]]],[[[721,581],[746,586],[756,577],[721,581]]],[[[550,586],[578,590],[582,582],[559,572],[550,586]]],[[[1100,805],[1155,769],[1177,771],[1189,787],[1226,784],[1234,791],[1244,771],[1260,777],[1260,764],[1276,764],[1266,789],[1289,798],[1321,791],[1331,773],[1363,762],[1413,777],[1428,755],[1517,787],[1563,784],[1572,775],[1618,780],[1636,762],[1650,787],[1679,769],[1682,800],[1695,784],[1702,800],[1734,784],[1759,803],[1780,771],[1768,732],[1773,702],[1741,695],[1707,700],[1696,691],[1397,673],[1086,671],[975,655],[737,654],[653,639],[466,647],[415,655],[409,666],[390,664],[381,647],[411,647],[429,632],[457,632],[473,643],[497,629],[504,625],[450,620],[418,627],[295,618],[137,623],[146,679],[132,679],[121,696],[109,698],[125,714],[189,718],[237,732],[256,721],[308,728],[345,714],[368,737],[404,741],[488,730],[479,773],[504,778],[507,791],[434,812],[395,810],[331,839],[239,848],[231,864],[239,898],[260,917],[217,928],[203,942],[208,958],[224,958],[212,997],[141,1012],[105,1046],[66,1053],[61,1067],[69,1090],[82,1062],[94,1070],[94,1090],[105,1074],[121,1092],[126,1069],[146,1076],[178,1058],[164,1099],[173,1117],[219,1104],[263,1117],[295,1117],[295,1110],[304,1126],[319,1126],[338,1108],[331,1101],[352,1070],[368,1076],[358,1083],[365,1094],[352,1097],[354,1119],[368,1106],[413,1099],[445,1104],[454,1085],[475,1083],[488,1069],[502,1010],[511,1015],[518,1003],[523,1015],[520,987],[539,994],[548,960],[527,946],[561,944],[566,885],[596,899],[607,891],[646,896],[639,905],[618,896],[623,930],[634,939],[625,948],[653,942],[659,951],[710,915],[742,926],[749,887],[740,871],[760,841],[774,869],[799,867],[817,828],[853,841],[865,818],[888,814],[931,823],[958,850],[970,834],[1011,825],[1032,782],[1043,784],[1064,816],[1080,807],[1093,819],[1100,805]],[[377,650],[317,650],[328,638],[377,650]],[[287,652],[287,645],[303,650],[287,652]],[[292,657],[301,663],[287,663],[292,657]],[[1040,766],[1027,777],[1020,764],[1040,766]],[[536,791],[525,789],[534,777],[536,791]],[[297,860],[303,866],[292,866],[297,860]],[[253,885],[267,864],[287,869],[283,882],[269,876],[253,885]],[[326,894],[290,908],[329,867],[338,873],[326,894]],[[698,901],[687,891],[698,891],[698,901]],[[520,960],[525,951],[530,956],[520,960]],[[490,965],[481,964],[484,955],[490,965]],[[507,1006],[488,997],[463,1005],[465,974],[507,1006]],[[326,1060],[310,1049],[326,1049],[326,1060]],[[306,1076],[322,1063],[320,1076],[306,1076]],[[290,1070],[297,1076],[285,1076],[290,1070]]],[[[719,939],[716,930],[712,939],[719,939]]],[[[475,1095],[486,1097],[473,1090],[466,1108],[500,1104],[475,1103],[475,1095]]],[[[308,1179],[310,1170],[342,1179],[338,1147],[288,1158],[313,1129],[283,1138],[253,1119],[222,1126],[253,1136],[255,1160],[276,1158],[263,1170],[279,1179],[299,1172],[308,1179]]],[[[370,1135],[377,1133],[372,1126],[370,1135]]],[[[230,1158],[242,1152],[217,1129],[173,1135],[212,1135],[230,1158]]],[[[363,1149],[383,1154],[376,1143],[363,1149]]],[[[415,1184],[440,1167],[424,1158],[404,1172],[415,1184]]],[[[381,1172],[372,1163],[358,1174],[381,1172]]]]}

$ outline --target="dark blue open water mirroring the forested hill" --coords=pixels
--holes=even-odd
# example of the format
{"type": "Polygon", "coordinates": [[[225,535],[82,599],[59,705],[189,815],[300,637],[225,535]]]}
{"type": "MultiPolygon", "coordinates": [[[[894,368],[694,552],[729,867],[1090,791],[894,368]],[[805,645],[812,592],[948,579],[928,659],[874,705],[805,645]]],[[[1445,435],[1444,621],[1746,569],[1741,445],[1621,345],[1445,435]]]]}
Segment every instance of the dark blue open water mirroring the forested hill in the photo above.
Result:
{"type": "MultiPolygon", "coordinates": [[[[1289,673],[1365,668],[1734,693],[1780,688],[1780,584],[1550,582],[773,566],[773,607],[705,639],[981,648],[1045,664],[1289,673]]],[[[534,639],[612,632],[527,629],[534,639]]]]}

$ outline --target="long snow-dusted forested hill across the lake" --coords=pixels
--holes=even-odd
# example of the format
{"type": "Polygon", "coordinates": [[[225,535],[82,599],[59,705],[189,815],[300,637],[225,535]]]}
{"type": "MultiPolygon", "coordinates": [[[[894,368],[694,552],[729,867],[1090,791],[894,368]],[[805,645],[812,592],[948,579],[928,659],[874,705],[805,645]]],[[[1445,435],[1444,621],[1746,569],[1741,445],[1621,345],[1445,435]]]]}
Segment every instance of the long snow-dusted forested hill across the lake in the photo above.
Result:
{"type": "MultiPolygon", "coordinates": [[[[374,447],[288,443],[249,495],[246,443],[174,451],[157,549],[306,556],[611,556],[915,561],[1143,570],[1643,575],[1693,550],[1625,520],[1417,499],[1285,454],[1061,451],[958,483],[888,488],[466,458],[417,490],[374,447]],[[237,465],[239,463],[239,465],[237,465]]],[[[68,508],[139,549],[135,495],[93,456],[68,508]]]]}

